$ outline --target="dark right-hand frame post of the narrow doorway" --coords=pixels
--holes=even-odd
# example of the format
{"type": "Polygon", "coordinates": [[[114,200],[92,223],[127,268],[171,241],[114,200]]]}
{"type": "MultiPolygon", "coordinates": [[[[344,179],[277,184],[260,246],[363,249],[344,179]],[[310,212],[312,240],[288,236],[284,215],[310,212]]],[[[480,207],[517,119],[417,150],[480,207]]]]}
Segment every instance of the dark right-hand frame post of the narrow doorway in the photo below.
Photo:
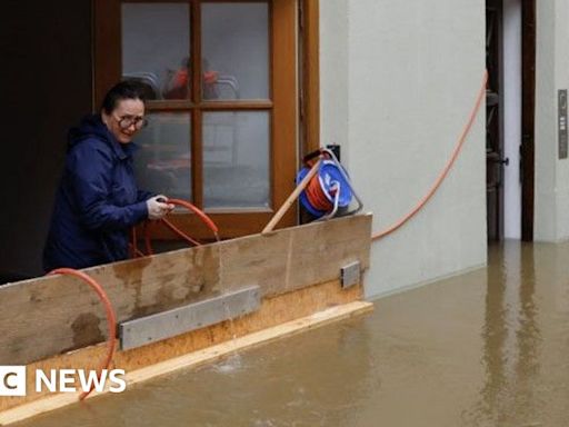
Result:
{"type": "Polygon", "coordinates": [[[521,0],[521,239],[533,240],[536,0],[521,0]]]}

